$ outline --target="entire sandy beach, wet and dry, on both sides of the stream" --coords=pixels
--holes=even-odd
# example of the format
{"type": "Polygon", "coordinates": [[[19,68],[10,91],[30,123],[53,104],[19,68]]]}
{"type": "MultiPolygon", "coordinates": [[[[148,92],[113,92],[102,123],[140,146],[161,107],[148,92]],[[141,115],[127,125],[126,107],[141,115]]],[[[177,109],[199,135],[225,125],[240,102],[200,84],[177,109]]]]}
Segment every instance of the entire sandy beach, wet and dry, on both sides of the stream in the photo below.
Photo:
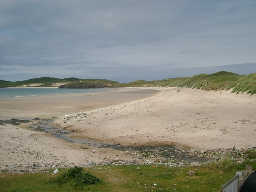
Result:
{"type": "MultiPolygon", "coordinates": [[[[74,137],[123,145],[166,143],[212,149],[256,144],[255,96],[189,88],[124,88],[87,94],[88,100],[85,95],[0,100],[0,118],[58,116],[56,124],[78,131],[74,137]]],[[[0,131],[0,164],[131,160],[122,151],[96,148],[93,153],[92,147],[83,149],[19,126],[0,126],[0,131]]]]}

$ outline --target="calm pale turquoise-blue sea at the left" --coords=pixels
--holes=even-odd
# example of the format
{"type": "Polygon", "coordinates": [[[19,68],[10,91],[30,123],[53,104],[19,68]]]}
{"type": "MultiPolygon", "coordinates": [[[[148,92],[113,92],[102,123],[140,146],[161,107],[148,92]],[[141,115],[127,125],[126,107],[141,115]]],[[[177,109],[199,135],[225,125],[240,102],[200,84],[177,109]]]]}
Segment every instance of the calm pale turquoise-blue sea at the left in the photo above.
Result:
{"type": "Polygon", "coordinates": [[[111,91],[111,89],[0,88],[0,98],[22,98],[107,91],[111,91]]]}

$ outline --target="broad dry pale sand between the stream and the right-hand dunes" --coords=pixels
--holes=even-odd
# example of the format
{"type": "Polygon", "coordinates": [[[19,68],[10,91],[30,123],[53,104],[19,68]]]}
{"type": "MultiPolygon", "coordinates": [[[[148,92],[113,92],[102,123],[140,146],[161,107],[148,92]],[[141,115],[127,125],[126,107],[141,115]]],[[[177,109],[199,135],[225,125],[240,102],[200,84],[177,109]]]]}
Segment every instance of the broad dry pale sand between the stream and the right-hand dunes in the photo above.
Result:
{"type": "Polygon", "coordinates": [[[256,144],[255,96],[190,88],[156,89],[160,92],[150,98],[72,114],[56,123],[76,130],[74,137],[122,145],[175,143],[212,149],[256,144]]]}

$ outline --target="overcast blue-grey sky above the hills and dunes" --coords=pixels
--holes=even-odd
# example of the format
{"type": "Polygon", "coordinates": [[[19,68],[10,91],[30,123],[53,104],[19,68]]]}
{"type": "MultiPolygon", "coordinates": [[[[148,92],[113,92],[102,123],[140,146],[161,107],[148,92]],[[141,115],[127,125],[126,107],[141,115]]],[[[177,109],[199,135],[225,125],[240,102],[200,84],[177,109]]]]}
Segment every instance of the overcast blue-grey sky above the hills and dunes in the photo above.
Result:
{"type": "Polygon", "coordinates": [[[255,0],[0,0],[0,80],[256,72],[255,0]]]}

